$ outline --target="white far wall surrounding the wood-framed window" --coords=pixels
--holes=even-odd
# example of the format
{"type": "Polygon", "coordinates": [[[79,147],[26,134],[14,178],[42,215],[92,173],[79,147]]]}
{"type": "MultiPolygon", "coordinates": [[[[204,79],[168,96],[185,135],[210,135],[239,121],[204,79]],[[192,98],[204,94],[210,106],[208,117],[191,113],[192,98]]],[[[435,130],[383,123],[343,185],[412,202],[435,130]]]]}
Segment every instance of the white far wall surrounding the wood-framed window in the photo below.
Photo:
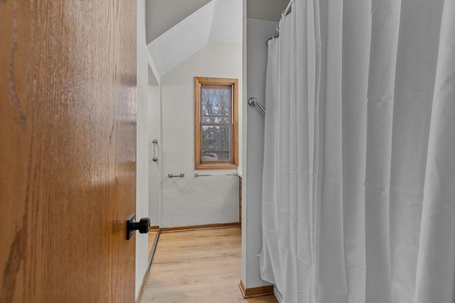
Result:
{"type": "Polygon", "coordinates": [[[238,180],[223,175],[234,170],[193,175],[194,77],[236,78],[241,88],[242,44],[210,42],[161,77],[161,227],[238,221],[238,180]],[[168,178],[168,173],[181,172],[185,177],[168,178]]]}

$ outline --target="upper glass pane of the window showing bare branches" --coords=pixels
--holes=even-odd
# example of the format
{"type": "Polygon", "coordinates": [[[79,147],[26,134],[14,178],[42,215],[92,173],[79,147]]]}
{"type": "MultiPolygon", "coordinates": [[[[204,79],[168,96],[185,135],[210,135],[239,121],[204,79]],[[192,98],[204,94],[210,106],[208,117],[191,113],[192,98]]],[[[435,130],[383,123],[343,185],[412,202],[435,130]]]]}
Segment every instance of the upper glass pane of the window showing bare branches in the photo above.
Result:
{"type": "Polygon", "coordinates": [[[201,97],[202,116],[208,123],[220,123],[221,117],[230,116],[230,87],[203,86],[201,97]]]}

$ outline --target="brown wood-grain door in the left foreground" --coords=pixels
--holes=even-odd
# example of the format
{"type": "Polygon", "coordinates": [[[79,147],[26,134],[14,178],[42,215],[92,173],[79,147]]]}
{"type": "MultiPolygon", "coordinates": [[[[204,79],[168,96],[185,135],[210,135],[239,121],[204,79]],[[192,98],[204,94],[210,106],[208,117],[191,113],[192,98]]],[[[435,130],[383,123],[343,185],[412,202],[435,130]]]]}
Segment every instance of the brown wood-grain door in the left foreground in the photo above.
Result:
{"type": "Polygon", "coordinates": [[[136,10],[0,0],[0,302],[134,302],[136,10]]]}

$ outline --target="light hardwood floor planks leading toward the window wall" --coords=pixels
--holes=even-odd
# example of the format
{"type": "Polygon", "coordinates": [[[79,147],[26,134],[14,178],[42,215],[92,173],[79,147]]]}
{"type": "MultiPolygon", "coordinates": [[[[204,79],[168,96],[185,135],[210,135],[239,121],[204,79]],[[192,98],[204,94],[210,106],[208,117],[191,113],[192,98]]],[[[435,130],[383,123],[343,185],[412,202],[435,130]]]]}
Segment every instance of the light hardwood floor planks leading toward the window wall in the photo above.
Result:
{"type": "Polygon", "coordinates": [[[243,299],[240,250],[240,227],[161,233],[141,302],[277,302],[243,299]]]}

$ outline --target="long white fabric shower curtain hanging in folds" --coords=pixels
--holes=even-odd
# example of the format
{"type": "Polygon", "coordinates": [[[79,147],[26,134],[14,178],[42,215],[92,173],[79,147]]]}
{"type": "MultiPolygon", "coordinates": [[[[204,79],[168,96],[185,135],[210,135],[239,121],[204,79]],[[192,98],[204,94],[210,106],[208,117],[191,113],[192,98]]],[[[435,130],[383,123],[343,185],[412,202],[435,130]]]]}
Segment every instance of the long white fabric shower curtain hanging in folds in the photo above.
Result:
{"type": "Polygon", "coordinates": [[[455,1],[296,0],[279,27],[262,279],[285,303],[454,303],[455,1]]]}

